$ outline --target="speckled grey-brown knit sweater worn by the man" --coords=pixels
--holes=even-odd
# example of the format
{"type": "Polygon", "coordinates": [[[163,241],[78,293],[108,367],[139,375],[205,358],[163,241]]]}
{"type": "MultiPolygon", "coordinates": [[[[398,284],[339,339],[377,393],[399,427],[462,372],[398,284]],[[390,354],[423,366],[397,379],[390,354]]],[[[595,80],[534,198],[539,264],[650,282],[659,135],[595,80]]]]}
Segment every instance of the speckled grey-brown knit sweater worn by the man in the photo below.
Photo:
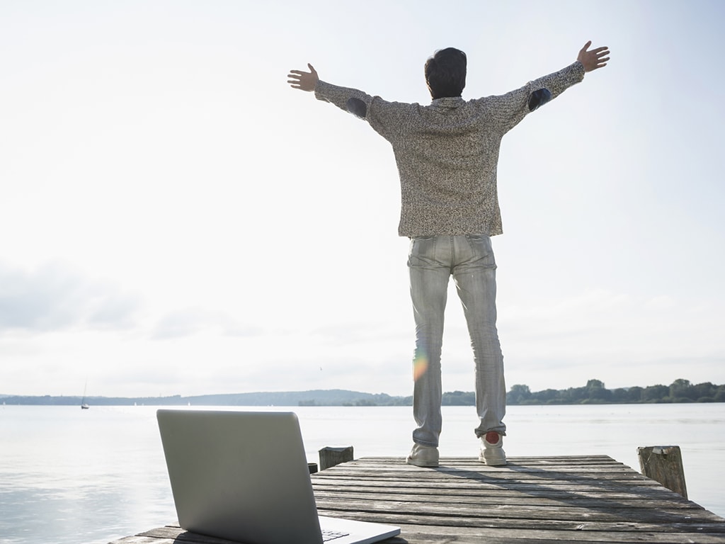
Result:
{"type": "Polygon", "coordinates": [[[507,94],[440,98],[428,106],[386,102],[324,81],[318,81],[315,96],[364,118],[392,145],[400,177],[400,236],[494,236],[502,234],[496,186],[502,137],[529,113],[535,91],[547,89],[553,99],[583,78],[577,61],[507,94]]]}

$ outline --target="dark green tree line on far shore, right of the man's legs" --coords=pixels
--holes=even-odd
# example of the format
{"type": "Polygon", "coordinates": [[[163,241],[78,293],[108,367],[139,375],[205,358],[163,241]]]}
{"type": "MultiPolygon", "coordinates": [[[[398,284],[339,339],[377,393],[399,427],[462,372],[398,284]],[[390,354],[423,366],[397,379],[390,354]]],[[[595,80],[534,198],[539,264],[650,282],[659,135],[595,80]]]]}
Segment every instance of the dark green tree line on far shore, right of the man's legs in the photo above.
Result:
{"type": "Polygon", "coordinates": [[[711,382],[691,384],[676,379],[670,385],[620,387],[608,390],[604,382],[590,379],[585,387],[531,391],[528,385],[514,385],[506,403],[516,404],[639,404],[639,403],[725,403],[725,385],[711,382]]]}

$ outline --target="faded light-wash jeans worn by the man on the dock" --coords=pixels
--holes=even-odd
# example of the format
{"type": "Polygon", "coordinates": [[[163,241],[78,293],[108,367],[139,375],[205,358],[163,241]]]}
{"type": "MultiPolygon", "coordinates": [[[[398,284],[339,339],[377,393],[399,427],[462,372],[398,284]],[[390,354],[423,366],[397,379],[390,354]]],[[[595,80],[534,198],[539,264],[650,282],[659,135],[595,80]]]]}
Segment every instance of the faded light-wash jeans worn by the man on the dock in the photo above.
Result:
{"type": "Polygon", "coordinates": [[[496,261],[489,236],[423,236],[410,241],[410,297],[415,316],[413,441],[437,446],[441,434],[441,348],[448,281],[453,276],[476,366],[476,436],[505,434],[506,385],[496,329],[496,261]]]}

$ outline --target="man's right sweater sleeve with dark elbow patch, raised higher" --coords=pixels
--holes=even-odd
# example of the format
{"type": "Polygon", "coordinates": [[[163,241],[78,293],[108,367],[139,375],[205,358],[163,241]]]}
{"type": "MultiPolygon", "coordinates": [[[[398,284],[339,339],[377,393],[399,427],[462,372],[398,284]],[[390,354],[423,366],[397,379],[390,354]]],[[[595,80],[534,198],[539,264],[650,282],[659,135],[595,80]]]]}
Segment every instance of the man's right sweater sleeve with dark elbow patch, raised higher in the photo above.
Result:
{"type": "Polygon", "coordinates": [[[584,79],[584,66],[576,61],[563,70],[529,81],[515,91],[501,96],[490,96],[481,101],[492,107],[492,118],[504,134],[520,123],[526,114],[555,99],[582,79],[584,79]],[[539,92],[542,89],[548,92],[539,92]]]}

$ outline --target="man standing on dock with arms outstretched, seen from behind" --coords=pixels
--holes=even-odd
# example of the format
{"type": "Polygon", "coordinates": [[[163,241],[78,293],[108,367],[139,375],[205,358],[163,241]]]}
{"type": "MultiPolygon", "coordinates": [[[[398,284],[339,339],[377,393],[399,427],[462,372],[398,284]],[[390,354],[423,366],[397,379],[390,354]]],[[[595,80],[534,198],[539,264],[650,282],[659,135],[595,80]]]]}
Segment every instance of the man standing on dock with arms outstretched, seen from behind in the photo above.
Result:
{"type": "Polygon", "coordinates": [[[288,83],[315,91],[368,121],[392,144],[401,186],[399,235],[410,238],[408,267],[415,316],[413,450],[407,463],[438,466],[441,418],[441,347],[447,286],[453,276],[463,303],[476,364],[479,461],[506,464],[502,437],[506,389],[496,328],[496,262],[491,236],[502,234],[497,197],[501,139],[525,116],[606,65],[608,48],[589,50],[572,65],[501,96],[464,100],[466,56],[448,48],[425,65],[433,101],[428,106],[386,102],[354,88],[291,70],[288,83]]]}

